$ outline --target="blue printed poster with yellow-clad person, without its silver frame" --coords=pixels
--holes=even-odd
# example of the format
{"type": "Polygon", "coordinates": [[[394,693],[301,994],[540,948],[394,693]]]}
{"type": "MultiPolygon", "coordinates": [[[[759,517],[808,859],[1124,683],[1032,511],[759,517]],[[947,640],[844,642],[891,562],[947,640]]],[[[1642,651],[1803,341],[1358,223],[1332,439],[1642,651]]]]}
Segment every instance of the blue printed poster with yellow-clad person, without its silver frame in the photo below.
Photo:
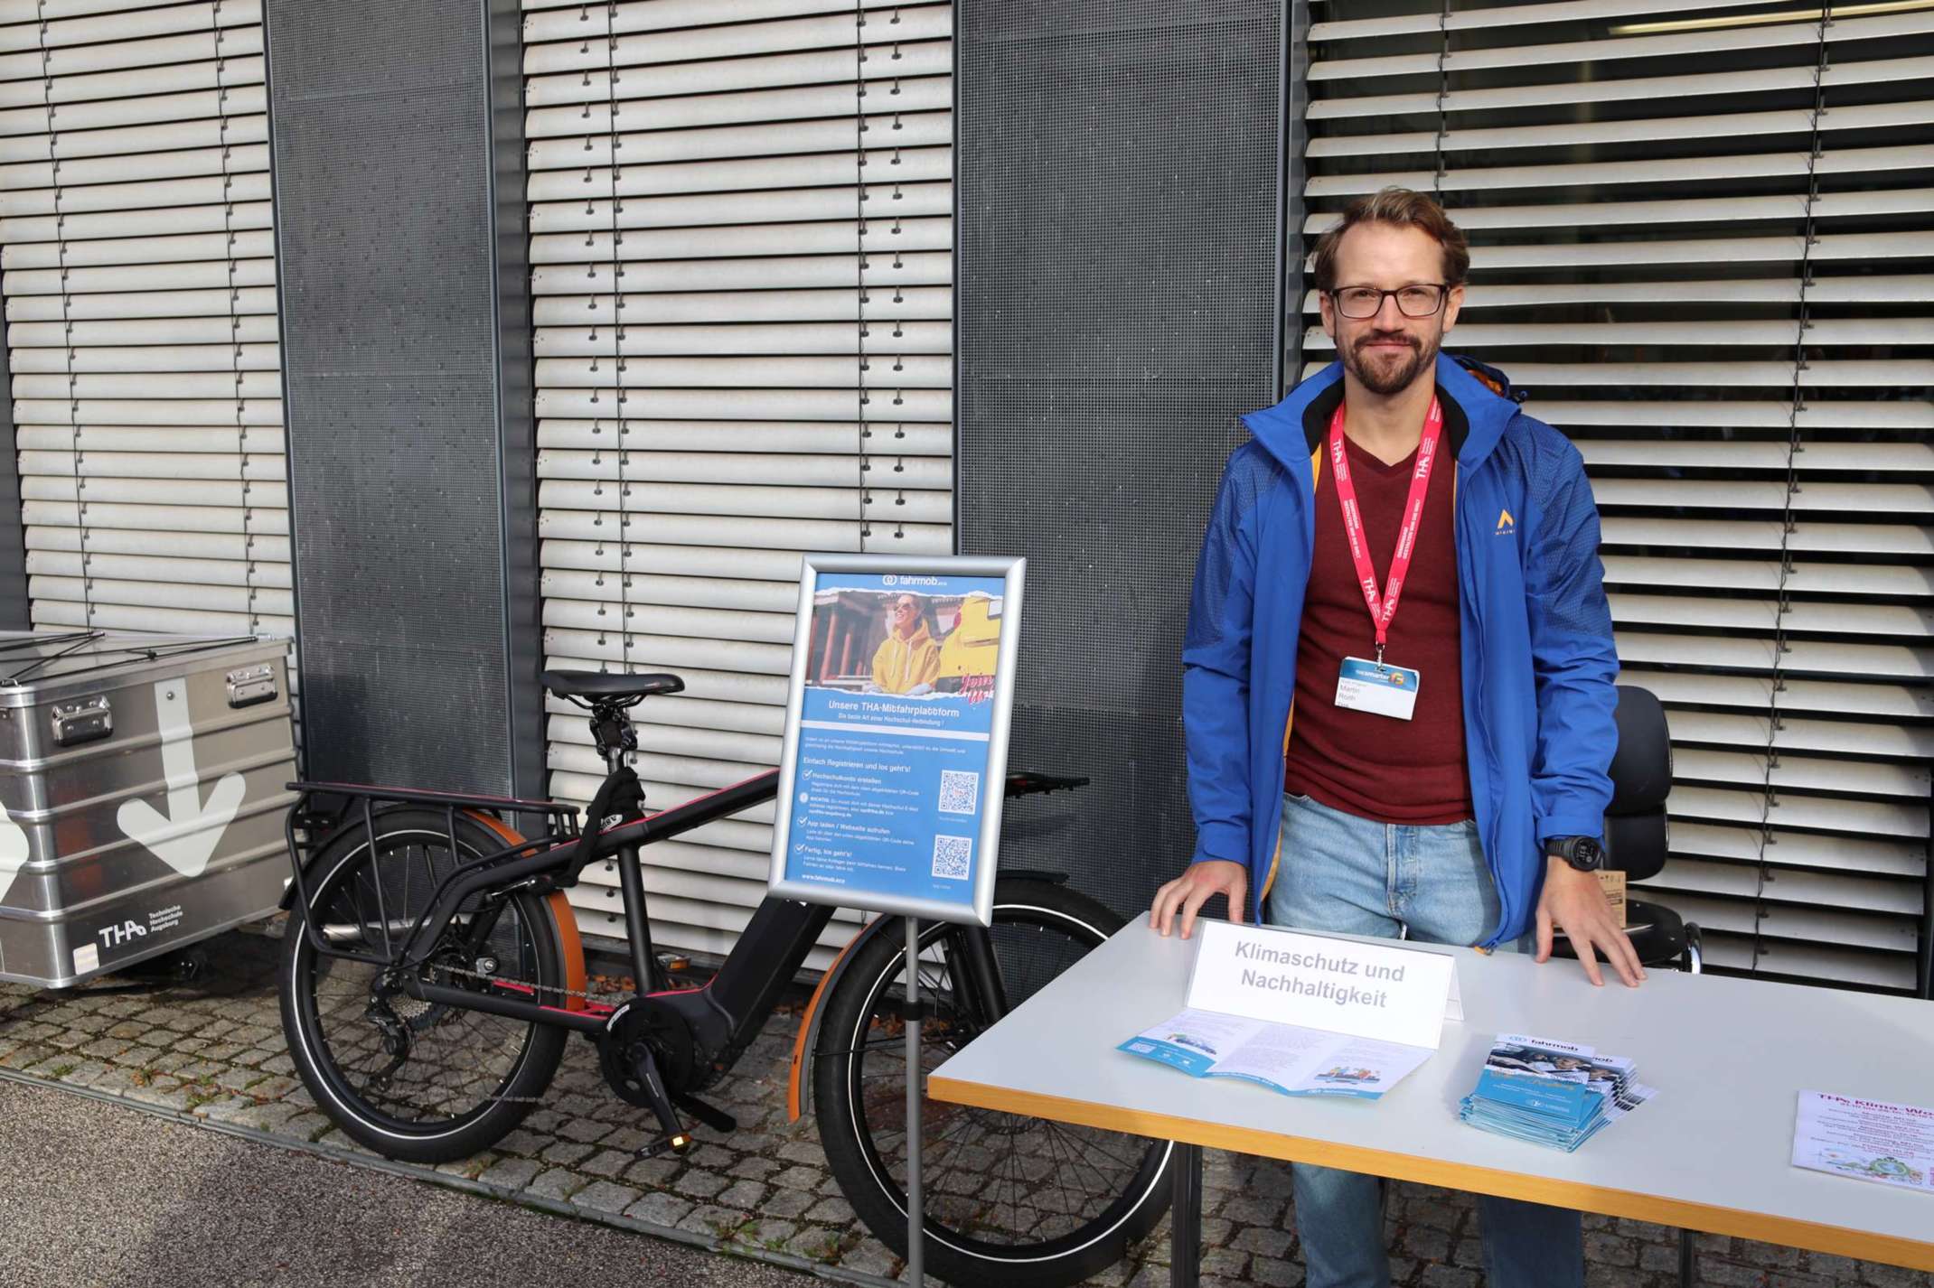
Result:
{"type": "Polygon", "coordinates": [[[785,878],[971,907],[1000,648],[998,576],[822,572],[785,878]]]}

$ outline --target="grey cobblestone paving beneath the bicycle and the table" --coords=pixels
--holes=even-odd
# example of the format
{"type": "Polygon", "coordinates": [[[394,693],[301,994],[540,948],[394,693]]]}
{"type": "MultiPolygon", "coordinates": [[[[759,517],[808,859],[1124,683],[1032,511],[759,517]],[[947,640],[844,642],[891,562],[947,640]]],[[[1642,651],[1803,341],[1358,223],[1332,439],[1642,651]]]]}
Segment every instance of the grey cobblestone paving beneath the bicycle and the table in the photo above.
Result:
{"type": "MultiPolygon", "coordinates": [[[[306,1149],[375,1162],[323,1118],[292,1073],[275,998],[278,942],[228,934],[207,944],[211,969],[191,986],[149,994],[89,994],[0,984],[0,1069],[85,1087],[211,1126],[246,1129],[306,1149]]],[[[112,981],[103,981],[112,982],[112,981]]],[[[880,1284],[899,1263],[853,1218],[826,1170],[810,1120],[785,1120],[785,1075],[797,1008],[774,1015],[712,1100],[739,1118],[729,1139],[698,1129],[683,1158],[638,1160],[644,1112],[603,1089],[586,1042],[571,1042],[545,1102],[493,1151],[441,1168],[389,1170],[425,1182],[567,1211],[648,1234],[729,1247],[880,1284]]],[[[1304,1282],[1288,1168],[1209,1153],[1203,1195],[1203,1284],[1304,1282]]],[[[1592,1288],[1671,1288],[1677,1232],[1586,1216],[1592,1288]]],[[[1391,1197],[1392,1276],[1406,1288],[1483,1282],[1476,1215],[1464,1195],[1398,1184],[1391,1197]]],[[[1934,1288],[1934,1276],[1700,1236],[1700,1282],[1715,1288],[1934,1288]]],[[[1095,1284],[1168,1282],[1166,1222],[1095,1284]]]]}

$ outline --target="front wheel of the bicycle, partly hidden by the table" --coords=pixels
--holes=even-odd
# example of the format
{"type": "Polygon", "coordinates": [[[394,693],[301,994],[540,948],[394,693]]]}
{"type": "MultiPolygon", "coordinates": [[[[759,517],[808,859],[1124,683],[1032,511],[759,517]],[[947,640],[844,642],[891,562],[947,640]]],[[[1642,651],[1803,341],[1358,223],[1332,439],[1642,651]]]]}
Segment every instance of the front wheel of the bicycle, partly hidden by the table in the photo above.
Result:
{"type": "MultiPolygon", "coordinates": [[[[1019,1006],[1120,926],[1122,919],[1100,903],[1052,882],[998,882],[994,942],[1010,1004],[1019,1006]],[[1068,951],[1050,955],[1050,944],[1039,936],[1060,936],[1068,951]]],[[[923,1068],[971,1040],[979,1027],[950,1002],[948,979],[928,963],[928,946],[955,930],[934,924],[921,934],[921,996],[938,998],[936,1017],[921,1027],[923,1052],[928,1052],[923,1068]]],[[[907,1255],[905,1042],[903,1029],[894,1027],[894,1011],[903,994],[905,955],[899,922],[882,926],[861,946],[826,1002],[814,1050],[814,1104],[826,1160],[859,1218],[901,1257],[907,1255]],[[876,1031],[884,1037],[868,1039],[876,1031]],[[882,1058],[868,1073],[872,1056],[882,1058]],[[899,1155],[892,1149],[895,1120],[899,1155]]],[[[952,971],[952,961],[946,969],[952,971]]],[[[1170,1141],[934,1100],[923,1100],[921,1116],[924,1267],[936,1278],[1064,1288],[1120,1261],[1168,1211],[1170,1141]],[[967,1133],[977,1124],[988,1139],[1008,1141],[1008,1156],[982,1156],[988,1147],[967,1133]],[[1112,1166],[1095,1166],[1097,1155],[1112,1158],[1112,1166]],[[1044,1182],[1042,1162],[1064,1174],[1089,1166],[1099,1184],[1083,1203],[1068,1193],[1066,1182],[1044,1182]],[[1031,1195],[1023,1187],[1048,1193],[1031,1195]],[[1037,1203],[1071,1211],[1042,1213],[1037,1203]]]]}

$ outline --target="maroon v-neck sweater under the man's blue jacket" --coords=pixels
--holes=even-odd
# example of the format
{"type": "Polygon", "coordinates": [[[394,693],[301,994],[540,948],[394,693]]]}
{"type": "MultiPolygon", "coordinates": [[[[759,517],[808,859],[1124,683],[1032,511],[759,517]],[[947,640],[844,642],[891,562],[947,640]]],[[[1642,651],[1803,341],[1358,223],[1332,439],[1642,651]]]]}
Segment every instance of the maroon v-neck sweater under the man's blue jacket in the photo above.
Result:
{"type": "MultiPolygon", "coordinates": [[[[1416,453],[1383,464],[1346,439],[1377,590],[1391,574],[1391,553],[1410,495],[1416,453]]],[[[1387,824],[1449,824],[1472,816],[1464,764],[1464,681],[1458,667],[1456,462],[1439,453],[1418,551],[1410,561],[1385,661],[1420,671],[1414,719],[1391,719],[1336,708],[1344,658],[1375,658],[1377,630],[1363,605],[1350,561],[1350,540],[1336,505],[1336,474],[1317,476],[1317,543],[1296,640],[1296,710],[1286,791],[1331,808],[1387,824]]]]}

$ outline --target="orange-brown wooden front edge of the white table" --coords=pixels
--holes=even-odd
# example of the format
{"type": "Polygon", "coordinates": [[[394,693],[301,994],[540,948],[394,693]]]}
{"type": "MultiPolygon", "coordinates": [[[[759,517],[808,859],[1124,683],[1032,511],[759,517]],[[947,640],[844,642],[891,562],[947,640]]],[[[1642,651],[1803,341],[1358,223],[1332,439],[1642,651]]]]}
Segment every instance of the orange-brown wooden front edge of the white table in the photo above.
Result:
{"type": "MultiPolygon", "coordinates": [[[[1855,1257],[1859,1261],[1884,1261],[1888,1265],[1909,1267],[1915,1271],[1934,1271],[1934,1244],[1919,1244],[1891,1234],[1847,1230],[1816,1220],[1770,1216],[1766,1213],[1748,1213],[1737,1207],[1719,1207],[1714,1203],[1661,1199],[1657,1195],[1634,1193],[1630,1189],[1605,1189],[1599,1186],[1584,1186],[1580,1182],[1543,1180],[1462,1162],[1443,1162],[1441,1158],[1420,1158],[1383,1149],[1363,1149],[1362,1145],[1336,1145],[1333,1141],[1282,1135],[1276,1131],[1257,1131],[1253,1127],[1232,1127],[1195,1118],[1126,1110],[1114,1104],[1095,1104],[1091,1100],[1073,1100],[1070,1097],[1052,1097],[1037,1091],[1010,1091],[1006,1087],[988,1087],[986,1083],[969,1083],[938,1073],[926,1079],[926,1095],[934,1100],[1000,1110],[1006,1114],[1021,1114],[1025,1118],[1050,1118],[1054,1122],[1071,1122],[1083,1127],[1100,1127],[1104,1131],[1124,1131],[1162,1141],[1184,1141],[1187,1145],[1228,1149],[1242,1155],[1284,1158],[1288,1162],[1311,1162],[1350,1172],[1369,1172],[1373,1176],[1441,1186],[1445,1189],[1468,1189],[1505,1199],[1528,1199],[1532,1203],[1570,1207],[1582,1213],[1628,1216],[1632,1220],[1648,1220],[1661,1226],[1681,1226],[1710,1234],[1733,1234],[1746,1240],[1758,1240],[1762,1244],[1783,1244],[1787,1247],[1835,1253],[1839,1257],[1855,1257]]],[[[1930,1216],[1934,1216],[1934,1211],[1930,1211],[1930,1216]]]]}

